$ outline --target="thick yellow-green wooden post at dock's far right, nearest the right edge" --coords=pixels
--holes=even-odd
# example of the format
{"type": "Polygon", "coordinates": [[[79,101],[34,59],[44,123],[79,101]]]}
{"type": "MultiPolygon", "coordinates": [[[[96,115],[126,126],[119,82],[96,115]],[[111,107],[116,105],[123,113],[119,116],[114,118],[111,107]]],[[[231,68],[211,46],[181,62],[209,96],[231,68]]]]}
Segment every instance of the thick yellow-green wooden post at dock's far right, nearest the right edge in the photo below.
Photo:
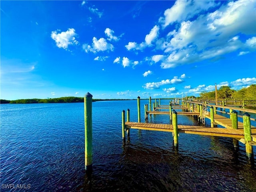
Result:
{"type": "Polygon", "coordinates": [[[250,114],[245,112],[243,114],[243,122],[244,122],[244,140],[245,140],[245,150],[246,155],[251,158],[253,157],[252,146],[249,144],[249,141],[252,140],[252,132],[251,132],[251,122],[250,122],[250,114]]]}

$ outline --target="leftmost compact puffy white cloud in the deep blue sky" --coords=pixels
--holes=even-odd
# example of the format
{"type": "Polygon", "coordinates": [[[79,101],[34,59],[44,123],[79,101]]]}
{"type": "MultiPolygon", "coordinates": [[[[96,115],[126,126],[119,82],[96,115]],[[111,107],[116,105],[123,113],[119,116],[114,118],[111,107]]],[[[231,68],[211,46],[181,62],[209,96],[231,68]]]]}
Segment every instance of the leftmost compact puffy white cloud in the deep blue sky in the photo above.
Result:
{"type": "Polygon", "coordinates": [[[57,31],[52,31],[51,38],[56,42],[56,46],[58,48],[67,49],[69,45],[78,44],[75,36],[75,30],[73,28],[69,28],[66,32],[57,33],[57,31]]]}

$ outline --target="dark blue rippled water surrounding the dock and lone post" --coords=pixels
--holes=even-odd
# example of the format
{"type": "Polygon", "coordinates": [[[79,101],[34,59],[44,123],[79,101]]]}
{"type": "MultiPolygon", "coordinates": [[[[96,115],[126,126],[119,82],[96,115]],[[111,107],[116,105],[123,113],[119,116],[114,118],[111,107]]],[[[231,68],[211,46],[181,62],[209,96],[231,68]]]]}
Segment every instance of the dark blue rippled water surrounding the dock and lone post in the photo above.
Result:
{"type": "MultiPolygon", "coordinates": [[[[142,122],[146,102],[141,100],[142,122]]],[[[180,134],[175,150],[172,133],[147,130],[131,130],[130,142],[123,144],[121,112],[129,108],[130,121],[136,121],[137,101],[92,106],[93,172],[87,175],[83,103],[2,104],[0,190],[256,191],[255,162],[246,158],[243,144],[236,151],[231,138],[180,134]],[[30,188],[10,190],[5,184],[30,188]]],[[[170,123],[168,115],[152,115],[149,121],[170,123]]],[[[178,123],[198,121],[178,116],[178,123]]]]}

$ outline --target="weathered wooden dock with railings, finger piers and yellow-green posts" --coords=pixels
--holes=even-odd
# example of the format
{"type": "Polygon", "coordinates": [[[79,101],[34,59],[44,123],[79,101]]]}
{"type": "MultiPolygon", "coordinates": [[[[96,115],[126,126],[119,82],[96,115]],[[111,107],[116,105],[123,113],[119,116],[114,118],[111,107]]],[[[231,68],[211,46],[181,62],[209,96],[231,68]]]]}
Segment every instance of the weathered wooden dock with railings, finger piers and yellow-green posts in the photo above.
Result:
{"type": "MultiPolygon", "coordinates": [[[[252,146],[256,146],[256,127],[251,126],[250,121],[255,121],[256,119],[251,118],[249,113],[256,114],[256,110],[245,109],[245,106],[254,106],[254,104],[245,104],[245,101],[234,100],[233,104],[229,101],[220,101],[220,105],[215,105],[214,102],[209,101],[188,101],[179,100],[179,103],[174,103],[170,101],[168,105],[160,105],[159,102],[153,103],[153,108],[151,105],[151,97],[149,99],[149,109],[148,104],[144,106],[145,122],[130,122],[130,110],[127,111],[127,120],[125,121],[124,114],[122,111],[122,132],[123,140],[125,141],[125,132],[127,132],[128,138],[130,137],[130,129],[139,130],[151,130],[151,131],[163,131],[172,132],[174,138],[174,146],[178,146],[178,136],[182,134],[198,134],[204,136],[220,136],[233,138],[234,147],[238,147],[238,142],[245,144],[246,155],[251,158],[253,157],[252,146]],[[181,101],[181,102],[180,102],[181,101]],[[242,102],[242,104],[238,103],[242,102]],[[173,105],[175,104],[175,105],[173,105]],[[238,108],[238,107],[243,108],[238,108]],[[168,110],[167,110],[168,109],[168,110]],[[176,112],[176,110],[178,110],[176,112]],[[181,110],[181,111],[180,111],[181,110]],[[228,110],[229,112],[226,112],[228,110]],[[237,114],[237,111],[245,112],[242,116],[237,114]],[[219,114],[217,114],[217,112],[219,114]],[[148,123],[148,115],[169,115],[170,124],[156,124],[148,123]],[[228,114],[230,117],[222,116],[222,114],[228,114]],[[181,125],[177,122],[178,115],[192,115],[198,118],[200,121],[200,126],[189,126],[181,125]],[[243,118],[243,122],[238,121],[238,117],[243,118]],[[205,119],[210,120],[210,126],[206,126],[205,119]],[[217,128],[216,126],[223,126],[224,128],[217,128]]],[[[250,101],[252,102],[252,101],[250,101]]],[[[256,103],[256,101],[255,101],[256,103]]],[[[140,97],[138,97],[138,117],[140,117],[140,97]]],[[[256,105],[255,105],[256,106],[256,105]]]]}

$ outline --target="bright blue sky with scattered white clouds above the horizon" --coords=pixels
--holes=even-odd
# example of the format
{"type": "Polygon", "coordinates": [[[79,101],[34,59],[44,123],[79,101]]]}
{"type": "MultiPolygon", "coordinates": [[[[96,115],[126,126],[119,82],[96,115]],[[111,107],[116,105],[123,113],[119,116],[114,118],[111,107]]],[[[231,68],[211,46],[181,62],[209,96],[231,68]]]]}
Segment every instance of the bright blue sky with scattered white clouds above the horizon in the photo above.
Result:
{"type": "Polygon", "coordinates": [[[256,3],[1,1],[1,99],[199,96],[256,84],[256,3]]]}

